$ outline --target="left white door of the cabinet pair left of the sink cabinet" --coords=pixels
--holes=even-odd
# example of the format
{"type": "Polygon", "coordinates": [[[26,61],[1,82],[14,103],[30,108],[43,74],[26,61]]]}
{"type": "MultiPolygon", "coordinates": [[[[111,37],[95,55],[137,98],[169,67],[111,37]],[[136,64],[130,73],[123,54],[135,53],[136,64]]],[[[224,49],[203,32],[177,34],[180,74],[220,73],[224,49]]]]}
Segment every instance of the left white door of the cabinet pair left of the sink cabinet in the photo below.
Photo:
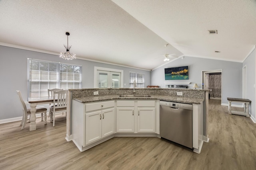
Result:
{"type": "Polygon", "coordinates": [[[102,111],[85,114],[85,145],[101,139],[101,120],[102,111]]]}

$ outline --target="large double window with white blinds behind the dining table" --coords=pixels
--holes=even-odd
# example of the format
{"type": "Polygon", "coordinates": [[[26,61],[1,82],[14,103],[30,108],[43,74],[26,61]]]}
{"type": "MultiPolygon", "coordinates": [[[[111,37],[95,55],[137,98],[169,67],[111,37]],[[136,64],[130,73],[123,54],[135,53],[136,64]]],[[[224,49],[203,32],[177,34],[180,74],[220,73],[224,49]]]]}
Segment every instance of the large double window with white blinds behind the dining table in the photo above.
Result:
{"type": "Polygon", "coordinates": [[[28,59],[28,97],[48,96],[52,88],[81,88],[82,66],[28,59]]]}

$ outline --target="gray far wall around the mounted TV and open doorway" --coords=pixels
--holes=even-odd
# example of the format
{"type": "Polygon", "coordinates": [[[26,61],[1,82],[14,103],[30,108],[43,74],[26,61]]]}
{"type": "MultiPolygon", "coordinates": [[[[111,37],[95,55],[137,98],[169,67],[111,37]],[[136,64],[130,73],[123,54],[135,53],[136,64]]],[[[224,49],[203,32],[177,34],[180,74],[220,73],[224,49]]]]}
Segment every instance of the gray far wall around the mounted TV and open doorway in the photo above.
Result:
{"type": "Polygon", "coordinates": [[[151,72],[151,84],[165,88],[164,82],[191,82],[192,88],[197,83],[202,88],[202,71],[222,69],[222,103],[228,104],[227,98],[242,98],[242,63],[184,57],[177,59],[151,72]],[[165,80],[164,68],[188,66],[189,80],[165,80]]]}

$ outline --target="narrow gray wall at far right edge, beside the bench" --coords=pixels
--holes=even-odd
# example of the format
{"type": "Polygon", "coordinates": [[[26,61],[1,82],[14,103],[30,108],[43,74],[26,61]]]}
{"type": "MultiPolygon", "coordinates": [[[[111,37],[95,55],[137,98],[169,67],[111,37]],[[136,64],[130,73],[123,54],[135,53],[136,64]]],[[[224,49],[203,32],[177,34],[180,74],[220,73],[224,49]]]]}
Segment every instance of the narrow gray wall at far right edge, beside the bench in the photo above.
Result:
{"type": "Polygon", "coordinates": [[[246,98],[252,101],[250,105],[251,116],[255,120],[255,49],[252,53],[246,58],[243,63],[243,67],[246,65],[246,98]]]}

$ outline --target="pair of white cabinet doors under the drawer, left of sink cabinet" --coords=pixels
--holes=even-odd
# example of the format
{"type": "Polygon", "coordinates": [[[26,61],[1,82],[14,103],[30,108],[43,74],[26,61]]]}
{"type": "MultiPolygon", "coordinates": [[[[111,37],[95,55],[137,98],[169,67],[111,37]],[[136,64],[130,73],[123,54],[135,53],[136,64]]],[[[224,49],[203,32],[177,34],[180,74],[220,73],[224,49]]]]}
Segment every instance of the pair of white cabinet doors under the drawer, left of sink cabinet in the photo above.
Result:
{"type": "Polygon", "coordinates": [[[114,108],[85,114],[85,145],[115,133],[114,108]]]}

